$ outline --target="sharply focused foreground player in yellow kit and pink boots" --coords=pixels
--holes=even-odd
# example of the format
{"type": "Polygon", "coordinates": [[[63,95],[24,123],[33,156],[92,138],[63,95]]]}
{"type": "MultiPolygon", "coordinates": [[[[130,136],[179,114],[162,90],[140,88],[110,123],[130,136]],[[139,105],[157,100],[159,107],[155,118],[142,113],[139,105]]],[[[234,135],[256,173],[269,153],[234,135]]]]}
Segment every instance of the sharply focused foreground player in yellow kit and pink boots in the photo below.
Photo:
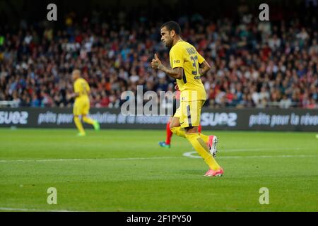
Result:
{"type": "Polygon", "coordinates": [[[151,61],[153,69],[159,69],[168,76],[177,80],[181,91],[180,107],[172,117],[170,130],[177,136],[187,138],[197,153],[204,159],[210,169],[204,176],[222,176],[224,171],[213,158],[207,143],[213,145],[212,136],[198,133],[201,107],[206,101],[206,90],[202,84],[201,75],[211,69],[208,62],[196,49],[180,37],[181,28],[175,21],[164,23],[161,26],[161,41],[170,49],[170,66],[164,66],[157,54],[151,61]]]}

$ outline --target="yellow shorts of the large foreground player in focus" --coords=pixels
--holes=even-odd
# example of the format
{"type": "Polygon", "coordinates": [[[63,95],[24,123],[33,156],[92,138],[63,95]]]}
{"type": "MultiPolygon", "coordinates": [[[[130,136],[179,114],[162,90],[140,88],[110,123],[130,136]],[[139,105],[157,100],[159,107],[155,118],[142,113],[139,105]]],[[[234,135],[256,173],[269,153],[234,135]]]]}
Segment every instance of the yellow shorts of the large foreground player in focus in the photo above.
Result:
{"type": "Polygon", "coordinates": [[[182,128],[199,126],[204,102],[205,100],[181,101],[173,117],[179,118],[182,128]]]}

